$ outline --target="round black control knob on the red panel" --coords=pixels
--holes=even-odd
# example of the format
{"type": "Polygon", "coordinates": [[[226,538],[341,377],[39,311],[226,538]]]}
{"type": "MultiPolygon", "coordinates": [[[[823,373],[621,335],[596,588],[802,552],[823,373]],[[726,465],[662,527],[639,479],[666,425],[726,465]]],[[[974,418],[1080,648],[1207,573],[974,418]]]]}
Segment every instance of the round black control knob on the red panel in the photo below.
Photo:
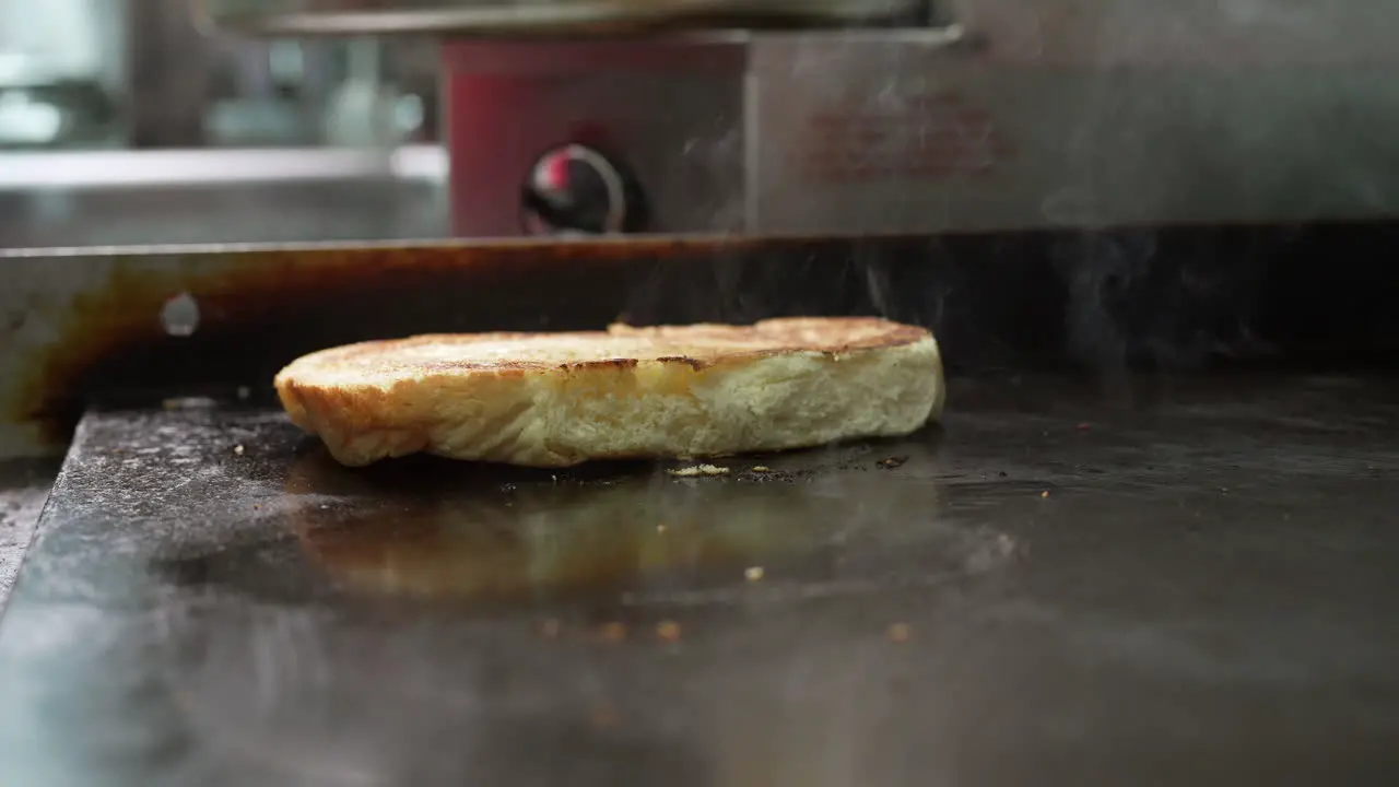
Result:
{"type": "Polygon", "coordinates": [[[616,160],[565,144],[530,168],[520,195],[525,231],[532,235],[638,232],[644,228],[641,192],[616,160]]]}

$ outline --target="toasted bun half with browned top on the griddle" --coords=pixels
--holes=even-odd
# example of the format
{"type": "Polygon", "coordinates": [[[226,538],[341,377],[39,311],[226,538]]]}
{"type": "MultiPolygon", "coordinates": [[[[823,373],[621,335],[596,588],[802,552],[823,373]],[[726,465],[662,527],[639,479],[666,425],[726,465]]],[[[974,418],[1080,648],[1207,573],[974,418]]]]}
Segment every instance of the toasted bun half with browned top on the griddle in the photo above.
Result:
{"type": "Polygon", "coordinates": [[[912,433],[944,395],[933,336],[872,318],[364,342],[298,358],[276,385],[346,465],[781,451],[912,433]]]}

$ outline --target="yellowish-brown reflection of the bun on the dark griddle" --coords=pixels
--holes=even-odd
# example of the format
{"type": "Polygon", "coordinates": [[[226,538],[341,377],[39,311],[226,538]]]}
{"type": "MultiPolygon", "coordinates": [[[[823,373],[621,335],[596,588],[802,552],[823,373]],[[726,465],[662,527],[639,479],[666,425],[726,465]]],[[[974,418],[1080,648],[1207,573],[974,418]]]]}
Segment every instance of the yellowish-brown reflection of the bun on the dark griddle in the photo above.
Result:
{"type": "Polygon", "coordinates": [[[765,584],[839,580],[869,573],[862,556],[876,555],[886,577],[963,573],[983,539],[928,521],[935,486],[881,469],[883,458],[785,459],[796,472],[744,459],[726,462],[730,476],[676,479],[652,465],[550,473],[431,458],[346,469],[316,450],[287,490],[306,500],[292,520],[312,562],[379,594],[662,598],[741,588],[755,566],[765,584]],[[907,564],[890,559],[900,552],[907,564]]]}

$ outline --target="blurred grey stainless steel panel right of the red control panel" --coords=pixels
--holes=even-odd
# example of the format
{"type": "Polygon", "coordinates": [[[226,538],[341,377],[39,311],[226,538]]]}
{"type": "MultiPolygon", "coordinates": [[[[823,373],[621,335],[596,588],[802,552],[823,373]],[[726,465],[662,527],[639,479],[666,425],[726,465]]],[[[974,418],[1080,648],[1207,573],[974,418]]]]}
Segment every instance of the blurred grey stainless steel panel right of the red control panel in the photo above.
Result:
{"type": "Polygon", "coordinates": [[[754,38],[751,231],[1399,210],[1399,7],[985,0],[954,15],[953,46],[754,38]]]}

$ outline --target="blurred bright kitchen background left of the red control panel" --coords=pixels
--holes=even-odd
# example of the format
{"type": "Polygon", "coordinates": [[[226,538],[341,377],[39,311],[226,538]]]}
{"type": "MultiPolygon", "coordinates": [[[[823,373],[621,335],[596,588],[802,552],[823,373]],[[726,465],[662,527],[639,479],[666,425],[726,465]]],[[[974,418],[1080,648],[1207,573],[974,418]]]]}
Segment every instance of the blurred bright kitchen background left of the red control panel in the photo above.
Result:
{"type": "Polygon", "coordinates": [[[0,248],[445,237],[431,39],[0,0],[0,248]]]}

